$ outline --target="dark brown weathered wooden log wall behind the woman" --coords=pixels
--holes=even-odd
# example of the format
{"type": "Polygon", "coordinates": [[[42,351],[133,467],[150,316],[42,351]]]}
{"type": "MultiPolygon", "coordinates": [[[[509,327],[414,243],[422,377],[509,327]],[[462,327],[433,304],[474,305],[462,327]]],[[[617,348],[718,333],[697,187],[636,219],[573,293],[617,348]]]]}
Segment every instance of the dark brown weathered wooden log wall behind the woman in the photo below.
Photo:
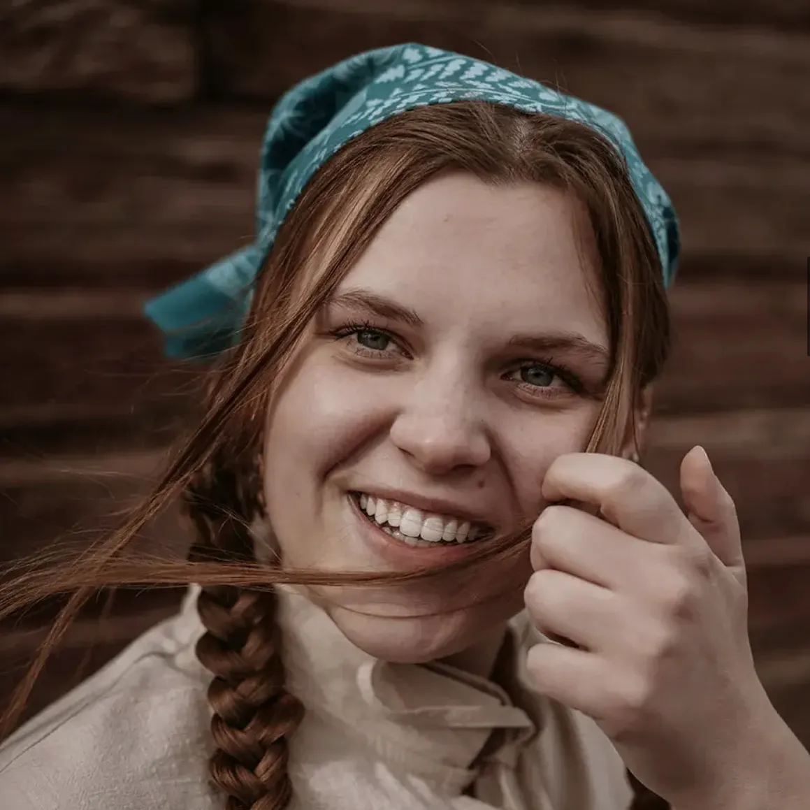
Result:
{"type": "MultiPolygon", "coordinates": [[[[0,559],[89,542],[148,485],[198,372],[140,306],[250,235],[292,83],[417,40],[619,113],[684,228],[650,468],[706,446],[737,501],[761,675],[810,745],[810,6],[802,0],[79,0],[0,9],[0,559]]],[[[172,514],[151,529],[176,543],[172,514]]],[[[70,633],[34,708],[177,603],[70,633]],[[70,677],[66,677],[66,673],[70,677]]],[[[6,693],[53,606],[0,634],[6,693]]]]}

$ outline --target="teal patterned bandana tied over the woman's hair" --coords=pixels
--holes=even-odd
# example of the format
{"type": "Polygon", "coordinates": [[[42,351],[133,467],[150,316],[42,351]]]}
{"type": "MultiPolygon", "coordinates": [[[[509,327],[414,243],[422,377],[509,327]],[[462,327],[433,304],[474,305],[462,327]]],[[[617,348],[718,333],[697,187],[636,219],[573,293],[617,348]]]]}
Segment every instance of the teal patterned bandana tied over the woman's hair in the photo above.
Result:
{"type": "Polygon", "coordinates": [[[671,283],[679,250],[675,211],[620,118],[478,59],[426,45],[396,45],[339,62],[297,84],[275,105],[262,143],[254,243],[147,302],[147,317],[167,336],[168,356],[210,356],[236,343],[254,279],[279,225],[310,177],[340,147],[407,109],[460,100],[548,113],[606,135],[627,161],[664,283],[671,283]]]}

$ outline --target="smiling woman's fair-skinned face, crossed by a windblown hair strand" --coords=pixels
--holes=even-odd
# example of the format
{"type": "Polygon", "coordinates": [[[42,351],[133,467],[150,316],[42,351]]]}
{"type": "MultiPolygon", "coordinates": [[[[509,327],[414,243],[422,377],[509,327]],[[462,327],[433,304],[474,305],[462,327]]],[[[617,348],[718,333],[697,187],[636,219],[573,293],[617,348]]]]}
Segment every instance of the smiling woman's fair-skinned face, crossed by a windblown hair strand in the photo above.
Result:
{"type": "MultiPolygon", "coordinates": [[[[402,572],[539,515],[545,471],[585,447],[608,371],[585,222],[561,191],[466,174],[391,216],[268,414],[266,504],[286,565],[402,572]]],[[[525,556],[309,596],[366,652],[427,661],[500,633],[530,573],[525,556]]]]}

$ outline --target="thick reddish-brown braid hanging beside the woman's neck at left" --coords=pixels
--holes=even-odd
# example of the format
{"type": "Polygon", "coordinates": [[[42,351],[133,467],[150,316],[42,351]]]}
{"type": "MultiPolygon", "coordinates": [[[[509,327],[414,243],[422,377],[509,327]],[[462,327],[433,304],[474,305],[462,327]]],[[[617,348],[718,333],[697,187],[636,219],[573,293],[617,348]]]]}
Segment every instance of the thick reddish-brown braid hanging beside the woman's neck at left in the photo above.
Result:
{"type": "MultiPolygon", "coordinates": [[[[209,463],[184,493],[194,523],[192,560],[255,559],[249,523],[262,509],[258,465],[239,470],[209,463]]],[[[301,723],[301,701],[284,689],[274,592],[204,586],[197,601],[206,632],[197,657],[214,678],[216,751],[211,780],[228,795],[227,810],[283,810],[292,795],[287,736],[301,723]]]]}

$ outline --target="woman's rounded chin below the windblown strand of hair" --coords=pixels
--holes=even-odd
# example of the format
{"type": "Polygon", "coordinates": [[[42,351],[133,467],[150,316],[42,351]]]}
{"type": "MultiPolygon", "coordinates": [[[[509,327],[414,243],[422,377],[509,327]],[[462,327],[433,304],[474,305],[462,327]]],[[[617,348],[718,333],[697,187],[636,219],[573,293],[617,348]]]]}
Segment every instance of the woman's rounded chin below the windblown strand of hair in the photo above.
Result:
{"type": "Polygon", "coordinates": [[[469,611],[437,616],[372,616],[333,605],[327,613],[354,646],[391,663],[427,663],[475,643],[469,611]]]}

